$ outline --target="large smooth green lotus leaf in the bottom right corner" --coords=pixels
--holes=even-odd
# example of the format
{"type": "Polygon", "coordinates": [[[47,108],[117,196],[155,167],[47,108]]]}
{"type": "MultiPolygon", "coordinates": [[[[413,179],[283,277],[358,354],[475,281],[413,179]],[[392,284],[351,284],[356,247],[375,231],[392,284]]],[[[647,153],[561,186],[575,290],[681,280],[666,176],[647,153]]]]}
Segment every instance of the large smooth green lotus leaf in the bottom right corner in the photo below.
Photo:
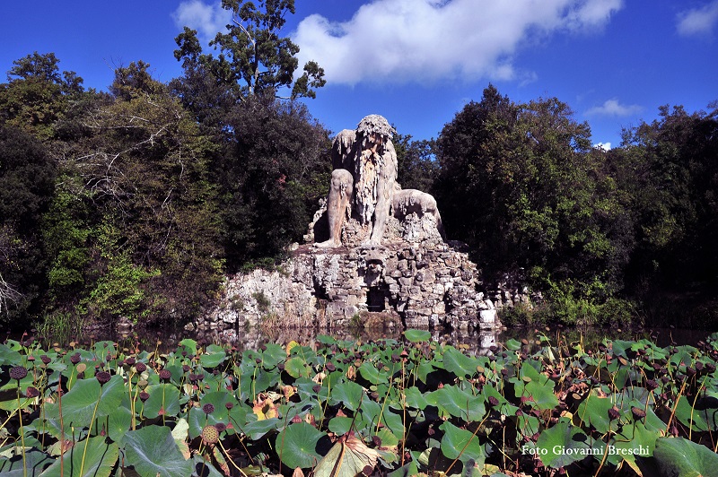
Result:
{"type": "Polygon", "coordinates": [[[718,454],[685,438],[656,439],[653,458],[663,476],[701,477],[718,470],[718,454]]]}

